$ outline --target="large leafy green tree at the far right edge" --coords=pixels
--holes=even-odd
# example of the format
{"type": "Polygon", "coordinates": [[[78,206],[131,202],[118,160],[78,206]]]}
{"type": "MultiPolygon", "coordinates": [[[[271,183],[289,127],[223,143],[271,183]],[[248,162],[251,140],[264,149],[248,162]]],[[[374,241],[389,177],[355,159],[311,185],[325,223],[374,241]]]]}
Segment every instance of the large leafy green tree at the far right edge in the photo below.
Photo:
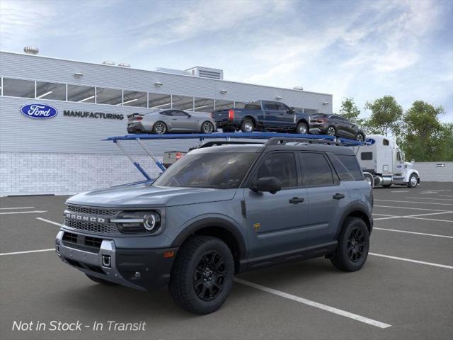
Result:
{"type": "Polygon", "coordinates": [[[432,106],[425,101],[414,101],[403,116],[401,147],[407,159],[419,162],[453,159],[452,124],[440,123],[442,106],[432,106]]]}

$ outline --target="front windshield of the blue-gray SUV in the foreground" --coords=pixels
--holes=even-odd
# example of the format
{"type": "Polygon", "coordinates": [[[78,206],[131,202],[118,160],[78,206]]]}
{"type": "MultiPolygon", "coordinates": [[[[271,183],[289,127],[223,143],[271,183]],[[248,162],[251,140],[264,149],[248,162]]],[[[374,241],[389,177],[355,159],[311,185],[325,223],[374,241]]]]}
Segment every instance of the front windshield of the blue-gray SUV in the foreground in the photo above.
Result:
{"type": "Polygon", "coordinates": [[[153,186],[238,188],[255,158],[254,152],[189,153],[168,168],[153,186]]]}

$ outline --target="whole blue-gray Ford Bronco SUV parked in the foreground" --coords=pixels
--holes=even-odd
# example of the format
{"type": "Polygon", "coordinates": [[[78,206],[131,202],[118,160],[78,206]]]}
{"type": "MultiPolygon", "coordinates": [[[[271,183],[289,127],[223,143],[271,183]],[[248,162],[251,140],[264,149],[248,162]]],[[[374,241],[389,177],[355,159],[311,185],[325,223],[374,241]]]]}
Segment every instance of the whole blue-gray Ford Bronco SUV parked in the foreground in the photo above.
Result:
{"type": "Polygon", "coordinates": [[[180,307],[207,314],[242,271],[319,256],[362,268],[372,205],[348,147],[282,138],[201,147],[154,183],[69,198],[56,251],[97,283],[168,285],[180,307]]]}

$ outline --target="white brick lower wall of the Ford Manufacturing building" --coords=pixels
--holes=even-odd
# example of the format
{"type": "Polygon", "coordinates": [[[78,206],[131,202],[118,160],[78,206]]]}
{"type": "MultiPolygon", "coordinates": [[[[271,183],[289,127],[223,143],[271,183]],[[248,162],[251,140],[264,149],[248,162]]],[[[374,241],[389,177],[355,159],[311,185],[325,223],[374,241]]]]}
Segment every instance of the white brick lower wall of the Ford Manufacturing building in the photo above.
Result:
{"type": "MultiPolygon", "coordinates": [[[[159,176],[159,168],[149,157],[136,160],[152,178],[159,176]]],[[[0,196],[71,195],[143,180],[132,162],[120,154],[0,153],[0,196]]]]}

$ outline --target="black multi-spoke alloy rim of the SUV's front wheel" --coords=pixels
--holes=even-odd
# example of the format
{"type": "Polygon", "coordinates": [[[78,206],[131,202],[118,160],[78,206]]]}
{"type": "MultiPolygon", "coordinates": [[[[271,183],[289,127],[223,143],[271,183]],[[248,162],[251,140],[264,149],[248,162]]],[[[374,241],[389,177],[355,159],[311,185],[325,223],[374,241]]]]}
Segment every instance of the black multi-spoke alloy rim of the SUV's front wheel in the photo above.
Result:
{"type": "Polygon", "coordinates": [[[210,250],[201,256],[193,276],[193,289],[203,301],[214,300],[224,288],[225,261],[218,251],[210,250]]]}

